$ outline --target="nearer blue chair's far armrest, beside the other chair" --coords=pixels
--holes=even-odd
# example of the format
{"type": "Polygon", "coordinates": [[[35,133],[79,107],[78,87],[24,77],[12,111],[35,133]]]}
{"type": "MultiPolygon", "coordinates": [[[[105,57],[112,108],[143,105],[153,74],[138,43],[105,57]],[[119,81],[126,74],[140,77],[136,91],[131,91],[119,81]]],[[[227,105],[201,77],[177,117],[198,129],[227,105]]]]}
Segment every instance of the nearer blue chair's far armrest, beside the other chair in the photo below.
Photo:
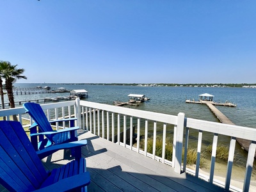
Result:
{"type": "Polygon", "coordinates": [[[51,147],[44,148],[42,150],[36,151],[36,154],[40,159],[44,159],[44,157],[47,157],[54,152],[62,149],[68,149],[68,148],[74,148],[75,149],[75,158],[80,159],[81,158],[81,147],[87,145],[87,140],[80,140],[80,141],[73,141],[69,143],[62,143],[59,145],[51,145],[51,147]]]}

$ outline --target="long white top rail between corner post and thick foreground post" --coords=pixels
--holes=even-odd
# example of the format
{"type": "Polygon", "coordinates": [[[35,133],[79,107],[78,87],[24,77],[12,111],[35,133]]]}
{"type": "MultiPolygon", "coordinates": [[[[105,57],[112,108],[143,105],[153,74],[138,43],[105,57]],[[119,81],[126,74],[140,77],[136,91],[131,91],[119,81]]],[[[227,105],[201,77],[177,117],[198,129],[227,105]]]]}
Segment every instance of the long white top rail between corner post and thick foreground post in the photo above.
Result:
{"type": "Polygon", "coordinates": [[[139,118],[145,118],[148,120],[163,122],[166,124],[177,125],[177,116],[175,115],[167,115],[167,114],[156,113],[151,111],[142,111],[139,109],[121,108],[121,107],[111,106],[109,104],[100,104],[100,103],[89,102],[84,100],[80,100],[80,105],[89,107],[89,108],[101,109],[104,111],[111,111],[113,113],[120,113],[122,115],[136,116],[139,118]]]}

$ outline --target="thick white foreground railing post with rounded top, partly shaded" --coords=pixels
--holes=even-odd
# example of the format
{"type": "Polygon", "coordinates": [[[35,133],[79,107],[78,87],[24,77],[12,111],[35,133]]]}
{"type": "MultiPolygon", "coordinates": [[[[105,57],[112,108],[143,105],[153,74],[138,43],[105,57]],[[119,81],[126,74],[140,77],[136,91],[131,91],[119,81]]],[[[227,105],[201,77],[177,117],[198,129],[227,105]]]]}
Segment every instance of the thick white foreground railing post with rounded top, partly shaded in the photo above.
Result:
{"type": "Polygon", "coordinates": [[[177,119],[177,132],[175,135],[176,143],[175,143],[175,163],[174,163],[174,171],[179,174],[181,173],[181,163],[182,163],[184,120],[185,120],[185,114],[179,113],[178,119],[177,119]]]}

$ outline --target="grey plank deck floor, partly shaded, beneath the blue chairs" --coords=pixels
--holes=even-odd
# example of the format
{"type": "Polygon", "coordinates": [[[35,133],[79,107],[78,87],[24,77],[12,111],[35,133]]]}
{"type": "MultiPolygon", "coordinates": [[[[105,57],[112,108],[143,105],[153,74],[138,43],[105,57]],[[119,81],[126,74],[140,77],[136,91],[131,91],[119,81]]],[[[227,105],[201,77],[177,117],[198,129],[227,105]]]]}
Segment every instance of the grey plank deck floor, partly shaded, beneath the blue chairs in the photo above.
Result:
{"type": "MultiPolygon", "coordinates": [[[[79,140],[83,139],[88,141],[88,149],[82,150],[91,175],[88,191],[224,191],[186,173],[175,173],[166,164],[90,132],[79,132],[79,140]]],[[[63,160],[63,151],[43,161],[48,169],[67,163],[63,160]]]]}

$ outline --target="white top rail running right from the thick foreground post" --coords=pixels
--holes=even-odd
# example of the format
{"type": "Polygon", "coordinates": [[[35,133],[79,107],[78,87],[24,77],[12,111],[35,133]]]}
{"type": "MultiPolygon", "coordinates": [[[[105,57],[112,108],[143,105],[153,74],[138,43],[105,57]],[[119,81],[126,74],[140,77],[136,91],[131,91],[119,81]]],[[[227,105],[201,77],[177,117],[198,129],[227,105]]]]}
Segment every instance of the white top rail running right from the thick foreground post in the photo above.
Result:
{"type": "Polygon", "coordinates": [[[256,129],[250,127],[221,124],[194,118],[186,118],[185,127],[256,141],[256,129]]]}

